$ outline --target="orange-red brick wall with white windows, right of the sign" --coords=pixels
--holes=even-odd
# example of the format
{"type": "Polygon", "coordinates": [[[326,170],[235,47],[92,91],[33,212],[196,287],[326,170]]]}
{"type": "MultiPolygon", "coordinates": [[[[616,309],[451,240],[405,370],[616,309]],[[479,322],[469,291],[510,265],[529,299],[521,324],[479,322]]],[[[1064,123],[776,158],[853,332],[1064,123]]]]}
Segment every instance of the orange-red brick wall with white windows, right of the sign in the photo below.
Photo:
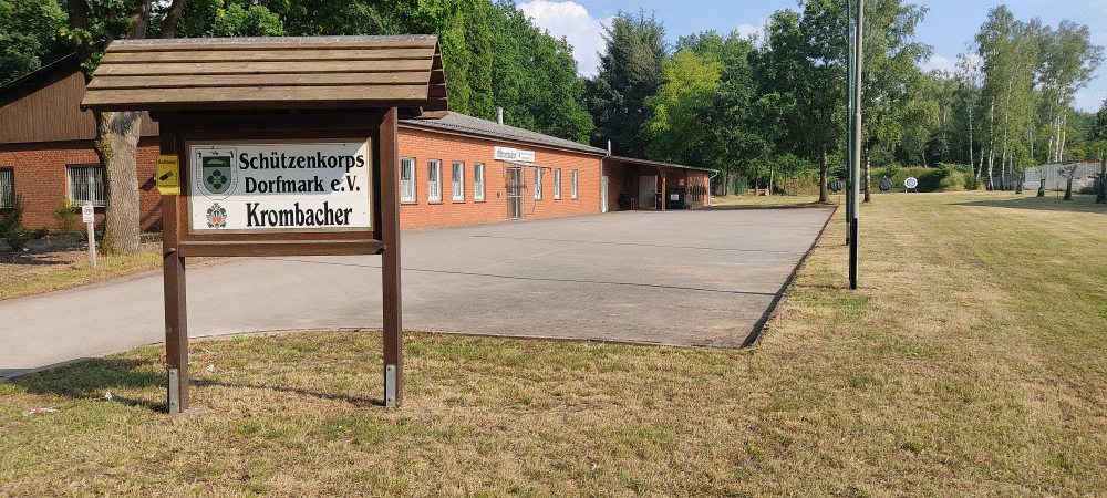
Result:
{"type": "Polygon", "coordinates": [[[571,152],[546,149],[459,135],[445,135],[424,129],[401,127],[400,157],[415,159],[415,201],[400,206],[403,229],[503,221],[507,216],[506,168],[513,165],[495,160],[493,147],[506,146],[535,151],[535,164],[542,170],[542,198],[535,199],[535,168],[523,168],[523,218],[550,218],[600,211],[600,157],[571,152]],[[427,199],[427,159],[439,159],[442,201],[427,199]],[[465,199],[453,200],[453,162],[465,163],[465,199]],[[485,165],[485,200],[474,200],[473,168],[485,165]],[[555,173],[561,170],[561,196],[555,198],[555,173]],[[572,170],[578,172],[577,198],[572,198],[572,170]]]}

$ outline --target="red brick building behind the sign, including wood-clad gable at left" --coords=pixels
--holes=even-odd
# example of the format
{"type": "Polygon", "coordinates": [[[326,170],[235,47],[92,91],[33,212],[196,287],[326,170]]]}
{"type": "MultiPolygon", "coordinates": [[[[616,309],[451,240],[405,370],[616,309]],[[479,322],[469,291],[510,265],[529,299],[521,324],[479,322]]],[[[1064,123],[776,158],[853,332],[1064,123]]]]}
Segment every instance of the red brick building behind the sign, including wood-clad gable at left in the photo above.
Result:
{"type": "MultiPolygon", "coordinates": [[[[0,207],[19,196],[28,227],[54,228],[53,214],[66,198],[93,201],[103,218],[95,123],[92,113],[80,111],[83,96],[75,58],[0,89],[0,207]]],[[[615,157],[464,114],[401,120],[397,141],[405,229],[710,203],[713,170],[615,157]]],[[[152,180],[157,152],[157,124],[144,117],[138,144],[144,229],[157,229],[161,221],[152,180]]]]}

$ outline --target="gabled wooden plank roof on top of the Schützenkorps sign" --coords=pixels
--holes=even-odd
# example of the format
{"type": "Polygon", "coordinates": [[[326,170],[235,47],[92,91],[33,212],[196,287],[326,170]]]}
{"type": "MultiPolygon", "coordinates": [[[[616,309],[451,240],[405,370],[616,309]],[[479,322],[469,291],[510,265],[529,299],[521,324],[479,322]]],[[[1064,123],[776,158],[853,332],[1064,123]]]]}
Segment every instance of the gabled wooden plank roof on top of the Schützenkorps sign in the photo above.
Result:
{"type": "Polygon", "coordinates": [[[446,80],[434,35],[118,40],[81,105],[445,111],[446,80]]]}

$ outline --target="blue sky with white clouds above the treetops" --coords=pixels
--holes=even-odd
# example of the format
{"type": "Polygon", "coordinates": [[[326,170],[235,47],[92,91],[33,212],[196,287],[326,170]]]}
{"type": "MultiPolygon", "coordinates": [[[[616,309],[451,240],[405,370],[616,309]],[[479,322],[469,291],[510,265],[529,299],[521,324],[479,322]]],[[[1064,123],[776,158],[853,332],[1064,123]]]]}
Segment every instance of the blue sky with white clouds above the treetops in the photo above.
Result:
{"type": "MultiPolygon", "coordinates": [[[[532,18],[538,27],[556,37],[566,37],[573,45],[573,56],[581,74],[594,74],[598,51],[603,50],[601,25],[618,11],[653,13],[665,25],[670,43],[681,35],[715,30],[730,33],[761,33],[762,24],[773,12],[796,10],[794,0],[734,1],[734,0],[532,0],[517,1],[519,8],[532,18]]],[[[929,8],[925,19],[917,28],[917,39],[934,48],[934,54],[923,69],[952,68],[965,44],[976,35],[987,12],[995,6],[1006,4],[1015,19],[1030,21],[1039,18],[1043,23],[1057,27],[1063,19],[1086,24],[1093,42],[1107,45],[1107,0],[1014,0],[1006,2],[981,0],[919,0],[929,8]]],[[[1099,110],[1107,98],[1107,63],[1100,65],[1095,80],[1076,95],[1075,106],[1084,111],[1099,110]]]]}

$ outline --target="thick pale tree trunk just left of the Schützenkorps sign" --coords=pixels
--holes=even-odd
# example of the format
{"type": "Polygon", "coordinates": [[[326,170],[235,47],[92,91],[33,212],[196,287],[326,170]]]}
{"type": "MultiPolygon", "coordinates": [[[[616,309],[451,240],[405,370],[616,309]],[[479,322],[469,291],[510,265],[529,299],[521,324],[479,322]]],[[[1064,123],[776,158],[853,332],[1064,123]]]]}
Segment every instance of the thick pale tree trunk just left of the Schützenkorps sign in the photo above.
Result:
{"type": "Polygon", "coordinates": [[[138,253],[138,135],[142,113],[103,113],[97,120],[96,154],[104,165],[107,216],[104,249],[120,255],[138,253]]]}

